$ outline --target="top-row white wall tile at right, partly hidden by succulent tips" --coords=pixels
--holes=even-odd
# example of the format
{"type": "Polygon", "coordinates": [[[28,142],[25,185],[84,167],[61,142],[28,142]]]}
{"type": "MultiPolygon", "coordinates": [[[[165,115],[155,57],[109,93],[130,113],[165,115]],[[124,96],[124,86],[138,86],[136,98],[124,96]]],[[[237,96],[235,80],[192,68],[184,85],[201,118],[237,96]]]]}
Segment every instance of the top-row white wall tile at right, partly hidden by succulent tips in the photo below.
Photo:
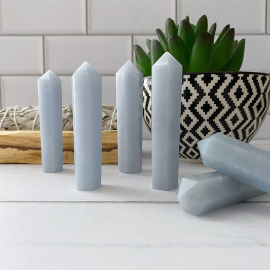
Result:
{"type": "Polygon", "coordinates": [[[236,33],[265,31],[265,0],[177,0],[177,4],[178,22],[188,15],[190,22],[196,25],[205,14],[209,26],[217,22],[217,33],[228,23],[235,27],[236,33]]]}

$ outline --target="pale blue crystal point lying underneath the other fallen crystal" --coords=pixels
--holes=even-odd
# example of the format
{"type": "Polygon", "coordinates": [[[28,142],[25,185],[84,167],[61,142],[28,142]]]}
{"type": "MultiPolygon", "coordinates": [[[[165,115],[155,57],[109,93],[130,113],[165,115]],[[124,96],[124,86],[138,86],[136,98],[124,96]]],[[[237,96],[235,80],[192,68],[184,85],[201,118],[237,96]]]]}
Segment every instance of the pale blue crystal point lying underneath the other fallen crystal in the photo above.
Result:
{"type": "Polygon", "coordinates": [[[264,193],[220,172],[210,172],[182,178],[177,198],[186,212],[200,216],[264,193]]]}

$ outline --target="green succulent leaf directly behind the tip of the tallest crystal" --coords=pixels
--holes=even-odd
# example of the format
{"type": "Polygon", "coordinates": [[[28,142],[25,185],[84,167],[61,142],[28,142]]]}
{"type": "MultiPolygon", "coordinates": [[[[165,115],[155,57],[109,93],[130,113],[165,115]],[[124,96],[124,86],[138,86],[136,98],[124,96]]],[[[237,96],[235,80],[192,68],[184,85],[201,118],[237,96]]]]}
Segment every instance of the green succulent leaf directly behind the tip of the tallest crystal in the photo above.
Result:
{"type": "Polygon", "coordinates": [[[168,38],[169,53],[182,65],[183,72],[188,70],[189,52],[182,38],[172,34],[168,38]]]}

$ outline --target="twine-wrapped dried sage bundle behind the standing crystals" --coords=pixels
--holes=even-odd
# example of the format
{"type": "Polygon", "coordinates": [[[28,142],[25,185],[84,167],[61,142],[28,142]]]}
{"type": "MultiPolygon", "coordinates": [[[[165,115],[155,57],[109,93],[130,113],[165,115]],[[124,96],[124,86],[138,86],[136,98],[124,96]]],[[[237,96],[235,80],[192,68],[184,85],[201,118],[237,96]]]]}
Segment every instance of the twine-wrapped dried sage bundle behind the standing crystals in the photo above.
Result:
{"type": "MultiPolygon", "coordinates": [[[[63,130],[73,130],[72,105],[62,108],[62,118],[63,130]]],[[[0,130],[40,130],[38,107],[15,106],[0,110],[0,130]]],[[[117,130],[116,107],[102,104],[102,130],[117,130]]]]}

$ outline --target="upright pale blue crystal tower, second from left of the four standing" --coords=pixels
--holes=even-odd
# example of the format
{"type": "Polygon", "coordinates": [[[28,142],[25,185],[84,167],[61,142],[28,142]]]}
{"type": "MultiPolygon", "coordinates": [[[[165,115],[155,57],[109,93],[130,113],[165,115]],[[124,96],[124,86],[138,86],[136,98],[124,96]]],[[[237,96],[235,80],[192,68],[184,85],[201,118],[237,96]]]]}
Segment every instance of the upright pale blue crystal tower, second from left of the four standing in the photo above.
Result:
{"type": "Polygon", "coordinates": [[[76,187],[94,190],[101,186],[101,75],[84,62],[71,81],[76,187]]]}

